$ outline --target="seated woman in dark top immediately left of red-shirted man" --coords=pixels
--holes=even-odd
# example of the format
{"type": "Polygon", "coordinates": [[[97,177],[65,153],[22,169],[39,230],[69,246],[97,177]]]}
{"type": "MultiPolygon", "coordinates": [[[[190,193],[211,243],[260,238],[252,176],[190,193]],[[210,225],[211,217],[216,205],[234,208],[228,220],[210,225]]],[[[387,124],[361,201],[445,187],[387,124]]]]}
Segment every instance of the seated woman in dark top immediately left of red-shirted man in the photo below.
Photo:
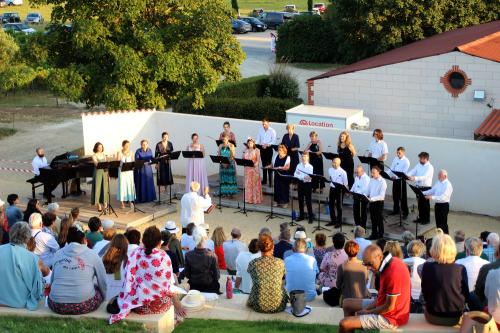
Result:
{"type": "Polygon", "coordinates": [[[357,258],[359,245],[355,241],[347,241],[344,246],[347,261],[341,264],[337,272],[337,289],[340,290],[342,299],[368,298],[370,293],[366,288],[368,270],[363,262],[357,258]]]}

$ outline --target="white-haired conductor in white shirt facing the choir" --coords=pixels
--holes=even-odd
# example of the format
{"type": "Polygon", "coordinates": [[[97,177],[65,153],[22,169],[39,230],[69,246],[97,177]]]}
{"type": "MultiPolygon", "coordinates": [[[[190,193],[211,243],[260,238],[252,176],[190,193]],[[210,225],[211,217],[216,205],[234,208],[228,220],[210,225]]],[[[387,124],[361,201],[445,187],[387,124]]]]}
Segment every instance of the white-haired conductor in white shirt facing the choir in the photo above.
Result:
{"type": "Polygon", "coordinates": [[[184,229],[189,223],[197,226],[205,223],[205,210],[212,205],[212,199],[208,195],[208,186],[205,187],[204,196],[198,195],[200,183],[191,182],[191,192],[185,193],[181,199],[181,224],[184,229]]]}

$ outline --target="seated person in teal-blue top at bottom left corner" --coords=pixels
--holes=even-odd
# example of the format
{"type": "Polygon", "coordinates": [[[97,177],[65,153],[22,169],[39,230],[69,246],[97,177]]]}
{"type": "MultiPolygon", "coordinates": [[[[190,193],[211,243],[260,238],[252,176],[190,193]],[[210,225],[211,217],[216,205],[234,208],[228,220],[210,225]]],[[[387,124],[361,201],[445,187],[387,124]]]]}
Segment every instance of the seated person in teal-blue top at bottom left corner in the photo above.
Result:
{"type": "Polygon", "coordinates": [[[10,244],[0,246],[0,305],[34,311],[43,297],[44,282],[40,259],[26,249],[31,239],[28,223],[14,223],[9,238],[10,244]]]}

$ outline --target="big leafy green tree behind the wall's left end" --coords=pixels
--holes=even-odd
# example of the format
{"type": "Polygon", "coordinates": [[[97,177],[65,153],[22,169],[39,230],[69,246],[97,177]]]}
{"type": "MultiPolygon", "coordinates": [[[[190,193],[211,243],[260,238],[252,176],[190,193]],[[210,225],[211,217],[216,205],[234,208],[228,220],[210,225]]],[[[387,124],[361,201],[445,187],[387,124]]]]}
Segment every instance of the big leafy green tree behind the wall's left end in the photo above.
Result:
{"type": "Polygon", "coordinates": [[[164,108],[181,96],[201,107],[221,78],[240,78],[244,54],[225,0],[33,2],[53,6],[46,47],[51,67],[65,71],[51,87],[90,107],[164,108]]]}

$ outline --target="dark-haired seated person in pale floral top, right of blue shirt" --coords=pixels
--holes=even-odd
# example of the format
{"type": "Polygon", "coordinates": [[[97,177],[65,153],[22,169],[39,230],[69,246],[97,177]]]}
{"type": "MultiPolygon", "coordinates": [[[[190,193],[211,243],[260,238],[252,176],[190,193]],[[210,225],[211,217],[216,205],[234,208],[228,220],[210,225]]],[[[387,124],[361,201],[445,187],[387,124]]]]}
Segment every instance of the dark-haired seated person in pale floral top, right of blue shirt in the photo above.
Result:
{"type": "Polygon", "coordinates": [[[344,251],[345,237],[341,233],[333,235],[333,251],[325,254],[320,265],[319,281],[323,287],[337,287],[337,271],[348,259],[344,251]]]}

